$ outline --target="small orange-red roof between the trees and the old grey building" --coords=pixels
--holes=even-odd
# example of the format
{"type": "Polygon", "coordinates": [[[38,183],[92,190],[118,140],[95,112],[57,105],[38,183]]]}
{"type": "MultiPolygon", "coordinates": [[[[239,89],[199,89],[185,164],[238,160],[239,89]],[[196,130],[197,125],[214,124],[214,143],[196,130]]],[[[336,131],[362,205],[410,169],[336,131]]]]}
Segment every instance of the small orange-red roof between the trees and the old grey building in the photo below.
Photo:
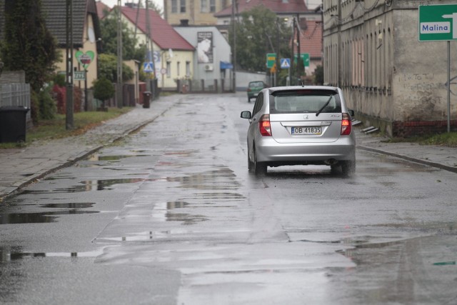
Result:
{"type": "Polygon", "coordinates": [[[300,53],[310,57],[322,57],[322,23],[314,20],[301,20],[300,53]]]}

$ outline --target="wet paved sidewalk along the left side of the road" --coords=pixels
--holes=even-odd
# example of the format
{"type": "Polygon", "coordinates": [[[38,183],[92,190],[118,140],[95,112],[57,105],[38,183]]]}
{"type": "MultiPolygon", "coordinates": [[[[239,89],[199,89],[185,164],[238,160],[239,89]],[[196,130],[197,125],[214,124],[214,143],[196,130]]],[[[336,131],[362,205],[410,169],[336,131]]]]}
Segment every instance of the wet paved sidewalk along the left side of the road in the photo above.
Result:
{"type": "Polygon", "coordinates": [[[151,123],[181,99],[182,96],[164,96],[152,101],[147,109],[137,105],[129,113],[106,121],[80,136],[38,141],[20,149],[0,149],[0,203],[2,197],[16,189],[70,166],[151,123]]]}

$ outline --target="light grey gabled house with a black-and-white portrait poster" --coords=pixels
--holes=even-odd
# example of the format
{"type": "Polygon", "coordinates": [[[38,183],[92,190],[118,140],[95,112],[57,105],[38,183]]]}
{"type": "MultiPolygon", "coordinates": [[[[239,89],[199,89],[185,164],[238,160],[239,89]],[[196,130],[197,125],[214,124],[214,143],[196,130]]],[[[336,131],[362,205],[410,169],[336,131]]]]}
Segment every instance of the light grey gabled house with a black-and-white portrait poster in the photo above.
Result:
{"type": "Polygon", "coordinates": [[[216,26],[175,26],[194,52],[193,91],[230,91],[232,88],[231,47],[216,26]]]}

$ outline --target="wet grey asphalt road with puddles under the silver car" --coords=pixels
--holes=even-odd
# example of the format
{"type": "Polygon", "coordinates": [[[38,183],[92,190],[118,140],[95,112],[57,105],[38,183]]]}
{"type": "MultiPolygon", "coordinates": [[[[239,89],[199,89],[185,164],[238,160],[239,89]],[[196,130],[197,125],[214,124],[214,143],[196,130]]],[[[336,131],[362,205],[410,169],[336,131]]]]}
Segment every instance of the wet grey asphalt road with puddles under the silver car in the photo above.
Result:
{"type": "Polygon", "coordinates": [[[0,303],[456,303],[456,174],[357,151],[258,179],[252,106],[191,96],[5,199],[0,303]]]}

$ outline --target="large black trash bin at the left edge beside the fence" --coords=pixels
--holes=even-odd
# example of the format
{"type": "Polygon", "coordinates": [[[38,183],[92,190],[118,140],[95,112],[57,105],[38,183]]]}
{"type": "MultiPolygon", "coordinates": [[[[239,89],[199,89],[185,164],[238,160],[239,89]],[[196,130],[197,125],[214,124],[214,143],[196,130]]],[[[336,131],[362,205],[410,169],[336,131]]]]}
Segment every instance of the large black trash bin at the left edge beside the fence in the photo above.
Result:
{"type": "Polygon", "coordinates": [[[26,114],[24,106],[0,107],[0,143],[26,141],[26,114]]]}

